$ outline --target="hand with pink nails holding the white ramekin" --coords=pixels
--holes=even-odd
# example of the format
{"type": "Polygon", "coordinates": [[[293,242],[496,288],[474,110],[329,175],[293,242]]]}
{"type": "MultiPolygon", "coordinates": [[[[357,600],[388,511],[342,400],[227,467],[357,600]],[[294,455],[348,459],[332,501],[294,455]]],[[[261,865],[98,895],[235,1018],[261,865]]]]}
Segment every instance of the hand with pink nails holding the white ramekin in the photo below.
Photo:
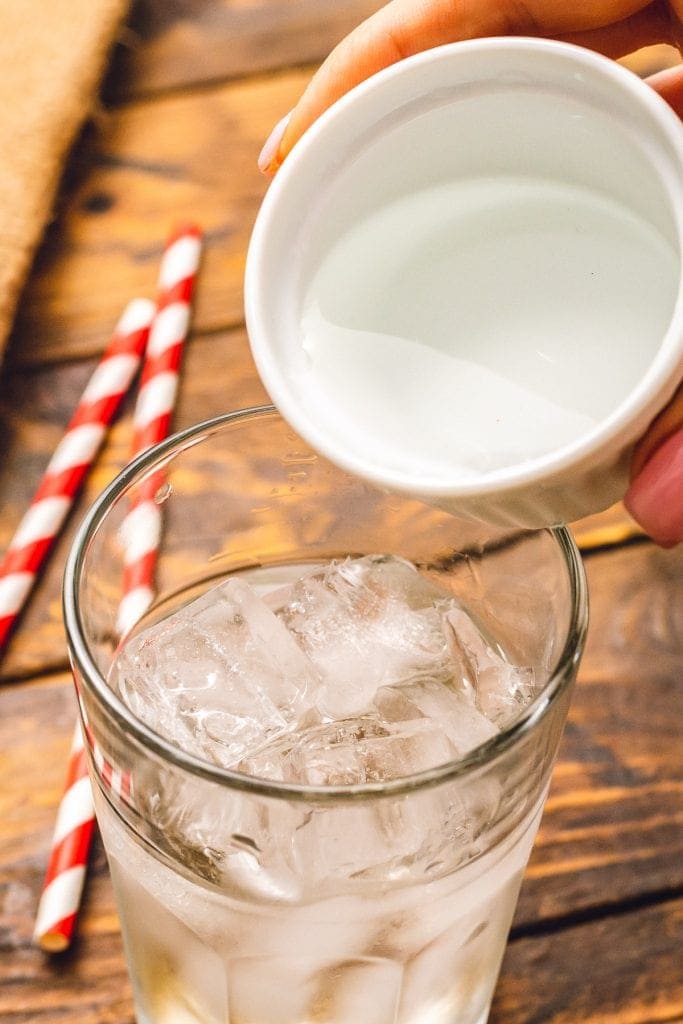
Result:
{"type": "MultiPolygon", "coordinates": [[[[274,174],[304,131],[358,83],[444,43],[484,36],[541,36],[618,58],[683,38],[683,0],[391,0],[332,51],[294,110],[273,129],[259,167],[274,174]]],[[[648,83],[683,117],[683,65],[648,83]]],[[[625,504],[664,547],[683,541],[683,385],[636,446],[625,504]]]]}

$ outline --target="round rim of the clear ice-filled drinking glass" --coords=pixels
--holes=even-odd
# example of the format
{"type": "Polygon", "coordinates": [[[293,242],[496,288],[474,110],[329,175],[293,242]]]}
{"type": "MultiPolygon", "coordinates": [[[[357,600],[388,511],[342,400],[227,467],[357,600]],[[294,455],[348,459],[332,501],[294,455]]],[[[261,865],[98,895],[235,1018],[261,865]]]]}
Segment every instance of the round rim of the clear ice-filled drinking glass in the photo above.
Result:
{"type": "Polygon", "coordinates": [[[548,681],[539,695],[510,726],[465,757],[447,761],[434,768],[389,779],[354,785],[309,785],[280,782],[245,775],[213,765],[175,746],[133,715],[117,696],[100,673],[90,651],[80,610],[79,589],[91,541],[105,521],[109,511],[140,475],[166,461],[174,452],[200,443],[218,433],[224,426],[258,415],[280,416],[274,406],[253,406],[224,413],[180,430],[132,460],[93,502],[81,522],[72,544],[65,569],[62,608],[67,643],[74,666],[79,670],[86,688],[114,720],[125,735],[131,735],[147,752],[169,762],[188,774],[231,790],[254,793],[262,797],[306,802],[358,801],[370,797],[400,796],[416,790],[431,788],[442,782],[474,774],[487,767],[510,748],[517,745],[545,718],[551,707],[564,693],[572,680],[572,672],[584,647],[588,627],[588,591],[579,549],[566,526],[547,527],[553,535],[566,565],[571,593],[569,625],[562,650],[548,681]]]}

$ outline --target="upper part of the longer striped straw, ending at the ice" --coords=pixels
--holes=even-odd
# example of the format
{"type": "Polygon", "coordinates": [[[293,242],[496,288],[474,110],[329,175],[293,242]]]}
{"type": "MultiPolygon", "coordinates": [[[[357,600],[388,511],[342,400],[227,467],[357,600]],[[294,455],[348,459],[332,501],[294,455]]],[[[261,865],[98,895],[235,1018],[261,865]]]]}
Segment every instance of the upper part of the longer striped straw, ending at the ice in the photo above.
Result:
{"type": "MultiPolygon", "coordinates": [[[[162,257],[157,315],[150,331],[133,413],[133,457],[164,440],[170,432],[201,253],[201,233],[193,225],[171,236],[162,257]]],[[[163,472],[153,473],[138,486],[122,524],[123,597],[117,617],[117,631],[122,637],[141,618],[154,599],[162,529],[161,509],[155,496],[163,482],[163,472]]]]}

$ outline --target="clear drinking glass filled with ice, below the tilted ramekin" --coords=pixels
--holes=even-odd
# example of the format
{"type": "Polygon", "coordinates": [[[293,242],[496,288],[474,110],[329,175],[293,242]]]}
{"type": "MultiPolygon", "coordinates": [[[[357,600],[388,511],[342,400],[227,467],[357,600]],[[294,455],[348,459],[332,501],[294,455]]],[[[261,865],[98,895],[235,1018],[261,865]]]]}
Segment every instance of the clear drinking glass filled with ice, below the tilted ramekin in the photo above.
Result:
{"type": "Polygon", "coordinates": [[[271,408],[246,410],[108,487],[71,552],[65,610],[139,1024],[483,1024],[586,632],[564,528],[460,521],[349,476],[271,408]],[[164,532],[146,621],[231,573],[263,593],[387,553],[530,667],[536,697],[462,759],[384,782],[297,785],[183,753],[108,681],[126,515],[151,479],[164,532]]]}

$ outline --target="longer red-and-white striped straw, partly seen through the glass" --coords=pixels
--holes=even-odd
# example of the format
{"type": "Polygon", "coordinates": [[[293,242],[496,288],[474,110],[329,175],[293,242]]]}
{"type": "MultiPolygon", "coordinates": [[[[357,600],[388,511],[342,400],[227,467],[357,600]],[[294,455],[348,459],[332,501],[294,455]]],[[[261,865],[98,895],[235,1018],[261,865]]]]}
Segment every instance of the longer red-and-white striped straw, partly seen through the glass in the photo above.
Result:
{"type": "MultiPolygon", "coordinates": [[[[157,312],[150,330],[133,414],[133,457],[163,440],[169,432],[200,252],[200,232],[191,227],[171,237],[162,258],[157,312]]],[[[154,597],[154,572],[161,539],[161,513],[154,497],[161,482],[160,474],[153,474],[144,481],[122,524],[126,551],[123,597],[117,620],[120,636],[135,625],[154,597]]],[[[117,796],[128,799],[129,773],[111,765],[92,737],[90,744],[104,783],[117,796]]],[[[77,723],[67,788],[57,815],[46,887],[34,932],[34,940],[48,952],[61,951],[71,943],[93,824],[87,761],[83,755],[81,727],[77,723]],[[84,779],[87,785],[82,784],[84,779]]]]}

